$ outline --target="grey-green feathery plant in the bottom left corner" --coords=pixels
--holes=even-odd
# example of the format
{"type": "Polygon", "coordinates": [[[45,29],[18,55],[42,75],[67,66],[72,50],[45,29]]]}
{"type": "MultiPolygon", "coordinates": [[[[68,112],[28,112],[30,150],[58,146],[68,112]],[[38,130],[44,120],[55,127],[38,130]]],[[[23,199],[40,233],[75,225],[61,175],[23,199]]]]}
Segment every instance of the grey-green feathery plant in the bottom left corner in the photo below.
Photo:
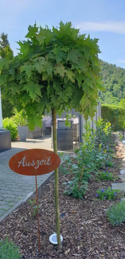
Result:
{"type": "Polygon", "coordinates": [[[1,259],[19,259],[21,258],[19,254],[19,247],[8,240],[8,237],[3,241],[0,241],[0,258],[1,259]]]}

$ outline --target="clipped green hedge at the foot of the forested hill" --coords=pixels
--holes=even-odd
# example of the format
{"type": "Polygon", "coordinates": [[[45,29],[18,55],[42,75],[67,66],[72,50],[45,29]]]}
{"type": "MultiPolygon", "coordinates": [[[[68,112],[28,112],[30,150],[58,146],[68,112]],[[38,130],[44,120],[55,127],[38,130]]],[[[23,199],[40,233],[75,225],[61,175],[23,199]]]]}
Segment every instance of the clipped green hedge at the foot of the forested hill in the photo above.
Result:
{"type": "Polygon", "coordinates": [[[102,104],[102,118],[104,119],[104,121],[109,121],[114,130],[117,130],[117,115],[115,113],[117,109],[118,109],[118,129],[123,129],[124,122],[125,122],[125,109],[118,105],[102,104]]]}

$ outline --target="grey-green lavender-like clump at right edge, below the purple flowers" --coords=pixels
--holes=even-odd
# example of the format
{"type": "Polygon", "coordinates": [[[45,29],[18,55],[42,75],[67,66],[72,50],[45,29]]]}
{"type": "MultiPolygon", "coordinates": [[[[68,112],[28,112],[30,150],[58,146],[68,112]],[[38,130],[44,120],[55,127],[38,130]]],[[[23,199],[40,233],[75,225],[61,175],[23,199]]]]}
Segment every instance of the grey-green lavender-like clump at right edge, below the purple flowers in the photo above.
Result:
{"type": "Polygon", "coordinates": [[[114,225],[121,225],[125,222],[125,201],[120,201],[117,204],[113,203],[112,206],[108,208],[106,216],[110,223],[114,225]]]}

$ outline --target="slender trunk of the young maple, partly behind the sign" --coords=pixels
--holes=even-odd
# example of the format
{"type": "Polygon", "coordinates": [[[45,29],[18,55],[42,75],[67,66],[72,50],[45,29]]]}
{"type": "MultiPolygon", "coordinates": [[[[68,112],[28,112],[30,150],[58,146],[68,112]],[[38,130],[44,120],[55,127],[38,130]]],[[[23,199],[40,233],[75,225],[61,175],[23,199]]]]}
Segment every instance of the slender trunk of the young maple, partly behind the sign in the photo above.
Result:
{"type": "MultiPolygon", "coordinates": [[[[52,125],[53,125],[53,149],[57,154],[57,133],[56,133],[56,111],[52,108],[52,125]]],[[[59,188],[58,188],[58,168],[55,169],[55,212],[56,212],[56,235],[58,249],[62,249],[62,243],[60,238],[60,215],[59,215],[59,188]]]]}

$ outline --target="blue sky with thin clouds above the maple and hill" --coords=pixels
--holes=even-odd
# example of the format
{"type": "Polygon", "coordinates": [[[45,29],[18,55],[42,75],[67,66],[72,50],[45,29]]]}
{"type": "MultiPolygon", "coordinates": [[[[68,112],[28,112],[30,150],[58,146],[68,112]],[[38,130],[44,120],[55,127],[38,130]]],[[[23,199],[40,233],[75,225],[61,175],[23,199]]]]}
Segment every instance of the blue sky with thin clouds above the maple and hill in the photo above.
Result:
{"type": "Polygon", "coordinates": [[[23,40],[28,25],[58,26],[71,21],[98,38],[99,58],[125,68],[125,0],[5,0],[0,5],[0,33],[8,34],[14,54],[15,41],[23,40]]]}

